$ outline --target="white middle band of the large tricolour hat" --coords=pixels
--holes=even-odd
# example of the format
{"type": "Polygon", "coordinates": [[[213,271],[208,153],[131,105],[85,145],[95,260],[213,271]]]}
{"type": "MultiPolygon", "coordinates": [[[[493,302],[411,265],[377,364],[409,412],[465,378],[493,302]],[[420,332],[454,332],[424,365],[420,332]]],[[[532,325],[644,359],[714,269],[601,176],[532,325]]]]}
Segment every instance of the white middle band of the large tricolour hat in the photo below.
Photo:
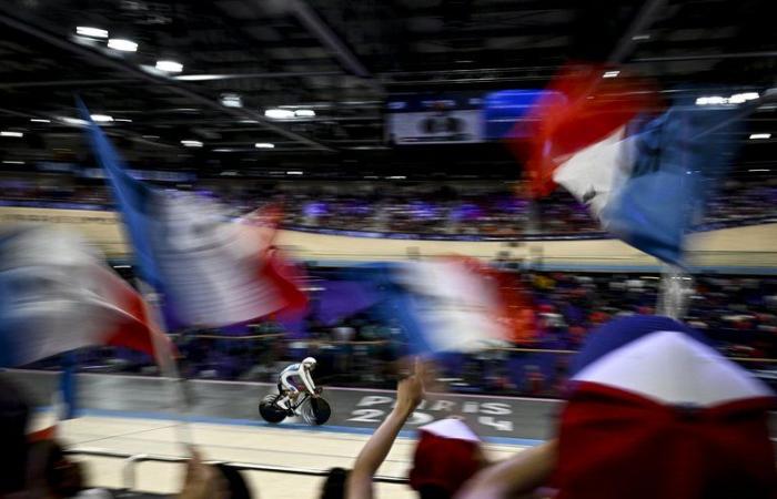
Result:
{"type": "Polygon", "coordinates": [[[581,370],[591,381],[663,404],[713,406],[771,391],[743,368],[684,333],[657,332],[617,348],[581,370]]]}

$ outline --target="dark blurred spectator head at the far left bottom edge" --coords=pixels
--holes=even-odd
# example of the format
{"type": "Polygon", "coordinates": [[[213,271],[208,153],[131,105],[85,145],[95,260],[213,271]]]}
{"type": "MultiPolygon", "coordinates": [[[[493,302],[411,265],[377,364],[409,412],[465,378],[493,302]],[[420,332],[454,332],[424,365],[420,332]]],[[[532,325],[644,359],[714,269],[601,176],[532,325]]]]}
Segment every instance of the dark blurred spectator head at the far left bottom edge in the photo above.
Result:
{"type": "Polygon", "coordinates": [[[21,390],[0,375],[0,497],[23,490],[30,406],[21,390]]]}

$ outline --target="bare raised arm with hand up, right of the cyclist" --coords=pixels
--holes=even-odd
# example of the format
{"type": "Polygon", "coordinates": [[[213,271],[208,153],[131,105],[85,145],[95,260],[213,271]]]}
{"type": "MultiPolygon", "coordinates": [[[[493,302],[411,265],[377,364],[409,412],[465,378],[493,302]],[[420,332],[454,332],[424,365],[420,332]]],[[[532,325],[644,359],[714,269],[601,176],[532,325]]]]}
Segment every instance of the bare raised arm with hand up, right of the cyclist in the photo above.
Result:
{"type": "Polygon", "coordinates": [[[424,396],[424,369],[416,360],[415,374],[396,387],[396,406],[359,452],[345,486],[346,499],[372,499],[372,477],[386,459],[402,426],[421,404],[424,396]]]}

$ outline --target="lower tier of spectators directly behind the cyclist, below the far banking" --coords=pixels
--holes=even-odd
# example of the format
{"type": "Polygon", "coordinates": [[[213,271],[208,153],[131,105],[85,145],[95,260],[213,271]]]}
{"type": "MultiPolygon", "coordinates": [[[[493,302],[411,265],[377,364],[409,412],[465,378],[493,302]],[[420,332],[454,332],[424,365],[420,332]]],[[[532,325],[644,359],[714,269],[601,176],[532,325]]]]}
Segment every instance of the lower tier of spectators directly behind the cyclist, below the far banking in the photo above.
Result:
{"type": "MultiPolygon", "coordinates": [[[[654,313],[660,283],[659,276],[645,274],[535,272],[523,278],[536,333],[513,349],[443,355],[451,389],[557,397],[568,360],[588,333],[612,318],[654,313]]],[[[699,276],[693,289],[688,324],[746,367],[774,369],[758,359],[777,357],[777,278],[699,276]]],[[[313,356],[320,383],[373,388],[391,387],[395,360],[403,355],[401,330],[370,309],[331,325],[311,313],[295,332],[272,320],[240,330],[185,330],[176,343],[185,353],[188,377],[273,383],[283,367],[313,356]]],[[[151,359],[129,350],[88,349],[80,355],[80,364],[90,370],[153,369],[151,359]]],[[[57,366],[53,360],[49,365],[57,366]]]]}

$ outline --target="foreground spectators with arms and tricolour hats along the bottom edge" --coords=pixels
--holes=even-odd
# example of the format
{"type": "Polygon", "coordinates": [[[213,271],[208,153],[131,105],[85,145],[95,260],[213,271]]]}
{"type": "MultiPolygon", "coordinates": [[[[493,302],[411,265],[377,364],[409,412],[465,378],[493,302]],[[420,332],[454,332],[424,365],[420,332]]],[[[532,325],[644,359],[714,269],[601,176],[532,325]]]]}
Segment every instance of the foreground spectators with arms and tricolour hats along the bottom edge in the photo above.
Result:
{"type": "MultiPolygon", "coordinates": [[[[694,342],[694,333],[682,323],[638,315],[597,328],[593,344],[617,344],[624,335],[632,335],[635,337],[630,338],[630,345],[635,345],[667,333],[694,342]]],[[[698,350],[686,344],[670,346],[694,355],[675,357],[673,361],[663,352],[642,350],[639,358],[650,357],[645,365],[630,361],[620,365],[617,374],[612,369],[599,371],[597,381],[588,384],[593,387],[586,388],[585,383],[569,385],[547,440],[501,461],[490,459],[482,437],[463,415],[451,414],[418,427],[407,485],[420,499],[773,498],[777,492],[775,452],[768,429],[773,404],[760,395],[763,388],[726,360],[698,355],[698,350]],[[679,358],[683,365],[677,365],[679,358]],[[727,386],[722,390],[737,397],[735,403],[712,407],[685,403],[698,398],[694,390],[700,389],[700,380],[712,381],[722,373],[715,366],[724,368],[723,373],[733,381],[725,383],[727,386]],[[676,380],[672,389],[672,400],[680,403],[656,398],[652,391],[620,388],[623,377],[632,380],[646,374],[658,377],[658,369],[687,373],[688,379],[676,380]],[[603,386],[608,391],[603,391],[603,386]],[[748,389],[749,398],[743,398],[748,389]]],[[[627,347],[615,347],[609,354],[617,356],[618,348],[627,347]]],[[[581,353],[583,361],[593,358],[593,363],[597,358],[605,363],[602,359],[607,355],[602,355],[598,346],[587,346],[581,353]]],[[[364,442],[352,469],[331,468],[314,497],[375,497],[373,482],[380,467],[424,401],[426,391],[437,388],[434,366],[427,361],[415,358],[405,363],[405,369],[396,383],[392,410],[364,442]]],[[[707,396],[716,393],[706,388],[704,391],[707,396]]],[[[0,437],[4,446],[0,452],[0,497],[163,497],[90,488],[84,468],[69,458],[56,439],[36,440],[34,435],[27,432],[31,413],[26,395],[0,377],[0,437]]],[[[189,446],[188,450],[190,457],[180,492],[169,497],[249,499],[261,495],[260,490],[248,487],[238,468],[205,464],[195,447],[189,446]]]]}

